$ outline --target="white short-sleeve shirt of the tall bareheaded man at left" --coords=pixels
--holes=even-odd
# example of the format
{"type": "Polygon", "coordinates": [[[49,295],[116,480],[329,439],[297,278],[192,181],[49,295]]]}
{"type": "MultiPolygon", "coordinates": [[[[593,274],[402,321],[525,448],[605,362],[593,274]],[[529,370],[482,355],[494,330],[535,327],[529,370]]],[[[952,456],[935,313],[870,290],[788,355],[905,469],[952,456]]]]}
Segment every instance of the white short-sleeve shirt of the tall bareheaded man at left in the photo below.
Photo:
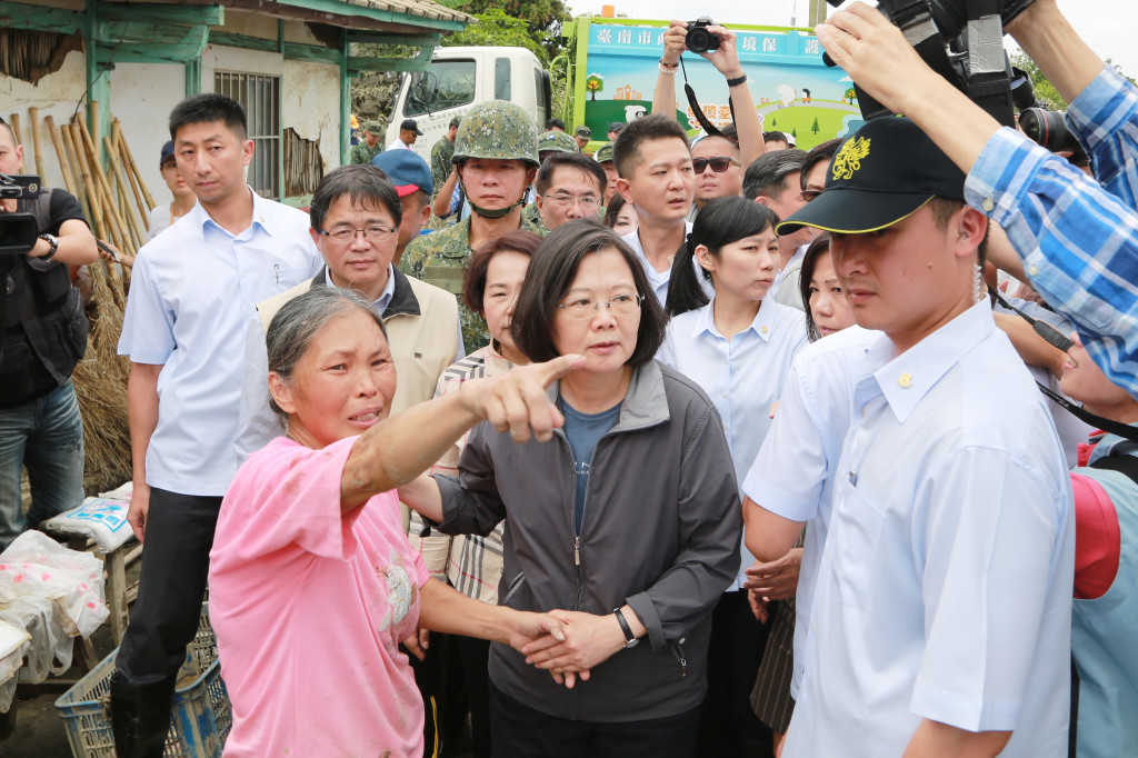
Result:
{"type": "Polygon", "coordinates": [[[253,223],[240,234],[197,205],[140,250],[118,354],[163,366],[149,485],[225,494],[237,470],[246,320],[323,265],[310,225],[306,213],[253,192],[253,223]]]}

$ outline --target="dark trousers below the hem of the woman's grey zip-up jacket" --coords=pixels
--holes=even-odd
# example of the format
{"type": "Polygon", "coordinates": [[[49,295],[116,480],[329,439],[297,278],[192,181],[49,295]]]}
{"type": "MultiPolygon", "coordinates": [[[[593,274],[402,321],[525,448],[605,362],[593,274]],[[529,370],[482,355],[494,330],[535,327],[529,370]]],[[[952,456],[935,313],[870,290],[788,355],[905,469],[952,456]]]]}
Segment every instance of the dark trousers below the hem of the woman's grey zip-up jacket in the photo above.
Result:
{"type": "MultiPolygon", "coordinates": [[[[587,686],[587,683],[585,683],[587,686]]],[[[577,686],[582,686],[578,683],[577,686]]],[[[534,710],[490,685],[495,758],[693,758],[700,708],[641,722],[597,723],[534,710]]]]}

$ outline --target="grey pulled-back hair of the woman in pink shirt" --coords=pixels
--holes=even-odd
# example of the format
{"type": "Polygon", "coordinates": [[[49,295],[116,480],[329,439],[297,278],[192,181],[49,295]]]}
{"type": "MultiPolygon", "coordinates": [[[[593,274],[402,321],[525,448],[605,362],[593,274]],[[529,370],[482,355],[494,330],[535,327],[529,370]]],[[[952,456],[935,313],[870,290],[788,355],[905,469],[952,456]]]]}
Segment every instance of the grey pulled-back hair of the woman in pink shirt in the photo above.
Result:
{"type": "MultiPolygon", "coordinates": [[[[265,333],[269,371],[275,372],[284,384],[291,382],[296,364],[308,352],[316,333],[336,319],[354,311],[363,311],[374,319],[387,339],[387,328],[376,312],[376,306],[358,293],[339,287],[315,286],[294,297],[281,306],[269,323],[269,331],[265,333]]],[[[280,417],[288,415],[277,405],[272,395],[269,396],[269,407],[280,417]]]]}

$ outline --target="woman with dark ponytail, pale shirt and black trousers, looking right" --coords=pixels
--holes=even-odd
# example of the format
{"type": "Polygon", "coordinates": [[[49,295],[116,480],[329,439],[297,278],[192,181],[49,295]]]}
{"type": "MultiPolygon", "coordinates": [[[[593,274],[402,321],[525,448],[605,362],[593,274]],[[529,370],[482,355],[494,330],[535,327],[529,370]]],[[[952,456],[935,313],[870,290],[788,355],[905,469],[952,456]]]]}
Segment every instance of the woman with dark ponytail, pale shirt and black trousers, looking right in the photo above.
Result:
{"type": "MultiPolygon", "coordinates": [[[[741,197],[718,198],[703,206],[673,264],[668,290],[673,320],[658,356],[715,402],[740,491],[770,425],[770,410],[782,394],[791,361],[807,341],[802,312],[766,297],[777,270],[777,223],[778,216],[769,208],[741,197]],[[692,258],[715,289],[710,300],[692,258]]],[[[704,755],[761,755],[772,739],[750,707],[767,634],[743,590],[744,571],[753,562],[740,543],[735,580],[712,617],[704,755]]]]}

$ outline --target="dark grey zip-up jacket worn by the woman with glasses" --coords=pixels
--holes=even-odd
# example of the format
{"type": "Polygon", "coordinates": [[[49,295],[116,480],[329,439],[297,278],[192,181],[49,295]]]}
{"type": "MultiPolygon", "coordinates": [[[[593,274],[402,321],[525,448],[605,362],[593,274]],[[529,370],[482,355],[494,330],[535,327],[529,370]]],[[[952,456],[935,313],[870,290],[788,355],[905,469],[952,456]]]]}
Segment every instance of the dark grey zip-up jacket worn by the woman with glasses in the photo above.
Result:
{"type": "MultiPolygon", "coordinates": [[[[550,395],[558,394],[554,385],[550,395]]],[[[723,422],[702,389],[658,362],[633,374],[619,420],[593,453],[580,535],[561,430],[549,443],[518,444],[484,422],[459,470],[436,477],[440,529],[485,535],[506,519],[501,604],[603,616],[627,602],[648,627],[637,646],[574,690],[495,643],[489,674],[498,690],[591,722],[662,718],[702,702],[711,609],[735,577],[742,530],[723,422]]]]}

